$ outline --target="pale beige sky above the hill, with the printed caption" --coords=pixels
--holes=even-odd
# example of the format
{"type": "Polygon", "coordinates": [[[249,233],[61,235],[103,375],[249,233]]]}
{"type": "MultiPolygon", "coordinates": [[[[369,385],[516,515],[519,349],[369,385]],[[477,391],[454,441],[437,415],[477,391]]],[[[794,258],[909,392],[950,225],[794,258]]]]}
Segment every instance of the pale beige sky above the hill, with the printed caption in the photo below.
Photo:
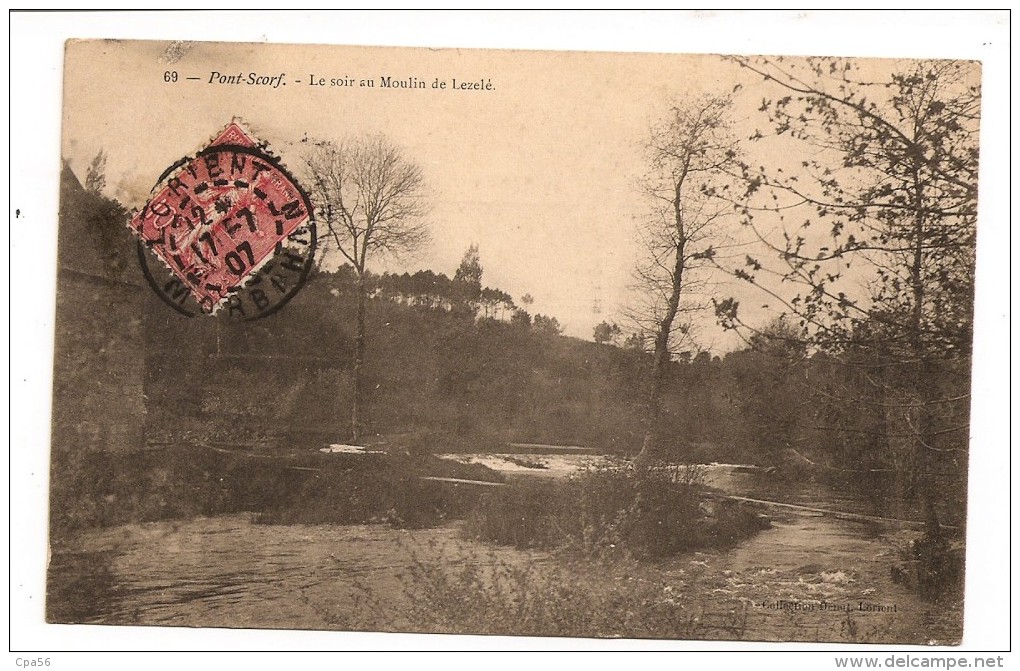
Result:
{"type": "MultiPolygon", "coordinates": [[[[627,326],[650,125],[672,100],[736,83],[749,92],[734,115],[747,119],[755,81],[716,56],[80,42],[66,52],[62,153],[84,178],[104,150],[106,193],[136,208],[165,167],[236,117],[299,180],[302,139],[381,133],[422,167],[432,243],[370,267],[452,275],[477,245],[484,285],[518,304],[529,294],[532,313],[591,339],[604,319],[627,326]],[[283,85],[219,83],[251,73],[283,85]],[[386,88],[385,76],[427,88],[386,88]]],[[[704,348],[732,347],[705,322],[704,348]]]]}

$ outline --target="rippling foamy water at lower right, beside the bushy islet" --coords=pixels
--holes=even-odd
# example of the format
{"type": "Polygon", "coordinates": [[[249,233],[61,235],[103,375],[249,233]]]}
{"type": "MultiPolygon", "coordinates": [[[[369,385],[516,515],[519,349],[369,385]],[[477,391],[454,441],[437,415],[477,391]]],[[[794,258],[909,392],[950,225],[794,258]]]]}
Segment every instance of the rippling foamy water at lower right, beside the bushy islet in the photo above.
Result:
{"type": "Polygon", "coordinates": [[[742,604],[742,637],[960,641],[959,600],[927,602],[891,579],[892,564],[916,531],[786,510],[771,521],[771,528],[732,549],[696,554],[675,567],[700,581],[707,610],[742,604]]]}

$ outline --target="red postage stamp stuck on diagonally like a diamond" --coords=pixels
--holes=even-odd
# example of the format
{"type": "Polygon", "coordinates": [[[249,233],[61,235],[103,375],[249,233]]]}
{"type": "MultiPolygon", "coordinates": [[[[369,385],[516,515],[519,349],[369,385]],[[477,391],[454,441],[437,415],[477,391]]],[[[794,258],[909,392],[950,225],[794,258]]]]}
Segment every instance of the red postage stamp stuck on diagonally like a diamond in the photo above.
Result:
{"type": "Polygon", "coordinates": [[[311,217],[296,180],[236,122],[160,184],[131,227],[208,314],[311,217]]]}

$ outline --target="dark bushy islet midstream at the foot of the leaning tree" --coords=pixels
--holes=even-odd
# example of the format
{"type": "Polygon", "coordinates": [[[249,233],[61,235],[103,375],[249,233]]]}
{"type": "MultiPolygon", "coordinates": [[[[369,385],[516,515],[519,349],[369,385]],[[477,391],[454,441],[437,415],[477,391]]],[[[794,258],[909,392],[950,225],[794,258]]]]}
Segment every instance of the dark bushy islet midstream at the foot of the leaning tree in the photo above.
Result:
{"type": "Polygon", "coordinates": [[[732,545],[761,528],[756,513],[703,498],[690,467],[597,468],[564,480],[488,493],[465,532],[516,548],[568,548],[588,557],[668,557],[732,545]]]}

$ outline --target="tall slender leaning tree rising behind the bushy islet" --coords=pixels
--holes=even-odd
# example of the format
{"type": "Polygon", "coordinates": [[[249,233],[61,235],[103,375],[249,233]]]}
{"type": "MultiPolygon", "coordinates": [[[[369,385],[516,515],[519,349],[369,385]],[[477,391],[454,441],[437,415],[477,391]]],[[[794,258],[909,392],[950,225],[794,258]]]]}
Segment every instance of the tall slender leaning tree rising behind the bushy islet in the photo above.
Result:
{"type": "Polygon", "coordinates": [[[727,212],[713,190],[737,159],[726,115],[730,104],[727,96],[682,101],[653,125],[646,144],[649,171],[642,188],[652,209],[639,231],[645,255],[635,270],[639,305],[630,315],[654,343],[642,466],[663,456],[661,397],[670,352],[690,339],[692,312],[705,307],[699,295],[727,212]]]}

